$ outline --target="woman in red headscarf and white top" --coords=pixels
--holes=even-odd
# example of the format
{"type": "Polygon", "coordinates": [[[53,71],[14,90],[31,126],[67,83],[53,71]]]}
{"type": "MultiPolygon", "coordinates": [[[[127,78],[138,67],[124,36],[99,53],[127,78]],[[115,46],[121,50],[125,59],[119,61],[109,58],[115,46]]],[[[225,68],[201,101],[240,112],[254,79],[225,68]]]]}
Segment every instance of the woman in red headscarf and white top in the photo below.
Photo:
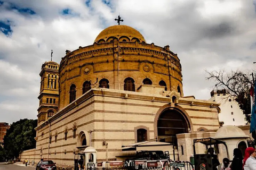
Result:
{"type": "Polygon", "coordinates": [[[243,167],[244,170],[256,170],[256,152],[252,147],[246,148],[244,153],[243,167]]]}

